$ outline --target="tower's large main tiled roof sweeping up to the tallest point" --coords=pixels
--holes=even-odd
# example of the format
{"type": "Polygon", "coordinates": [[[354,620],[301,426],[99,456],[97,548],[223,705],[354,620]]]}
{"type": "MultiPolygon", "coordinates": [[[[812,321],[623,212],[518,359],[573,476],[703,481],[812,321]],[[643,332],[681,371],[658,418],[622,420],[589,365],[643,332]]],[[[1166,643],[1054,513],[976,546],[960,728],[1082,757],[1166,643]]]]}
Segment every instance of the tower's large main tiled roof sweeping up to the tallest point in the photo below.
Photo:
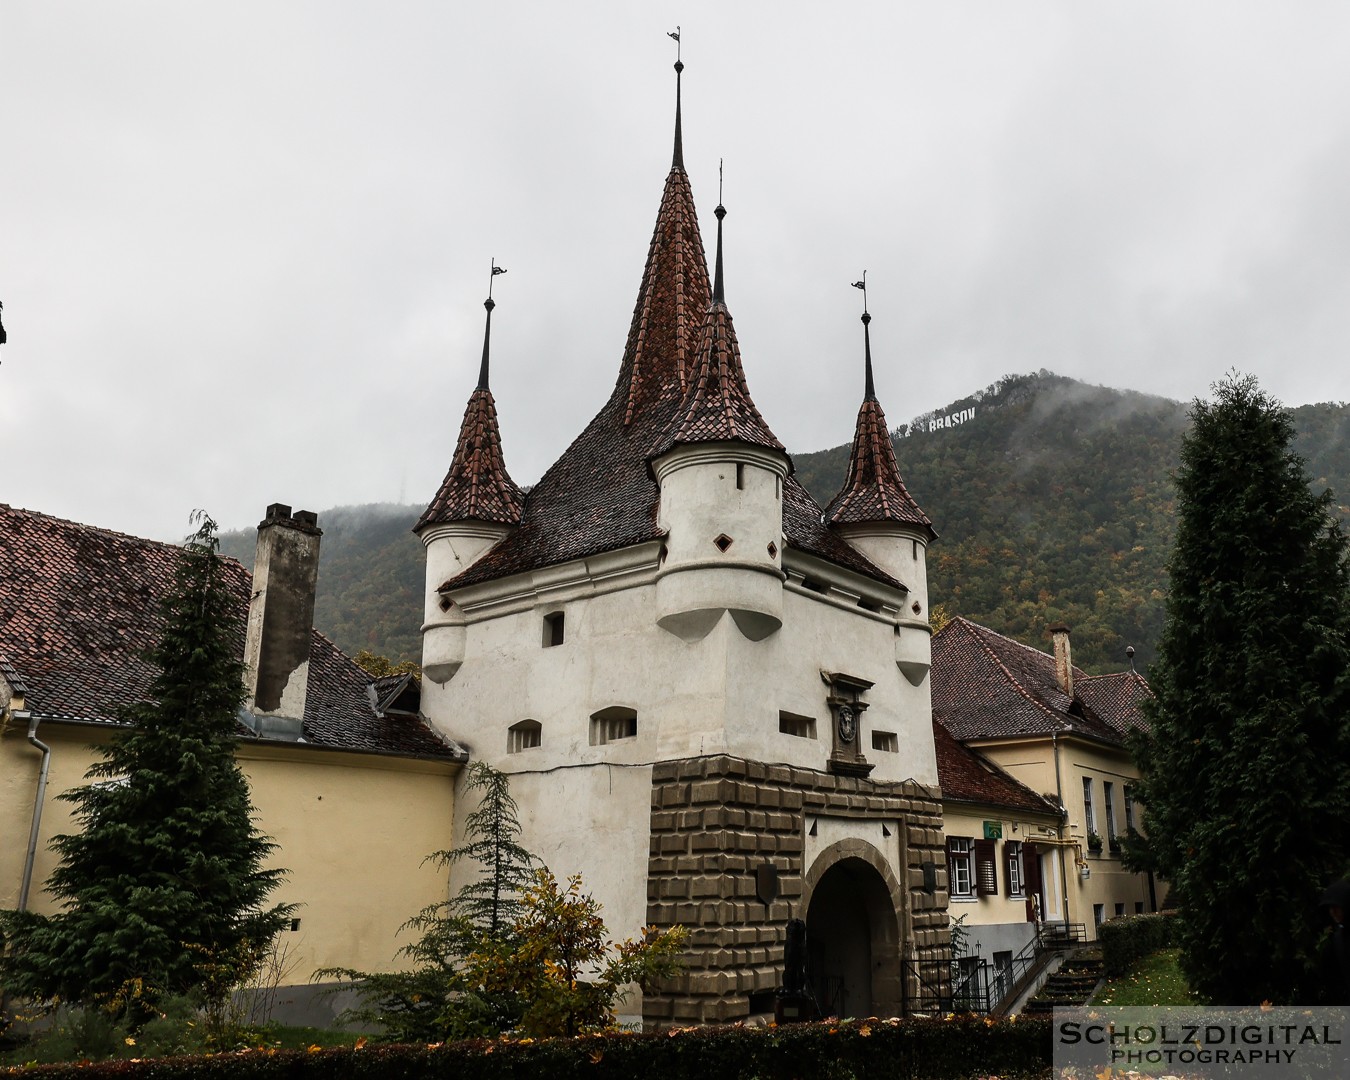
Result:
{"type": "MultiPolygon", "coordinates": [[[[664,535],[657,525],[660,489],[647,462],[680,416],[694,374],[698,327],[710,304],[694,198],[676,162],[666,178],[613,394],[531,490],[520,526],[441,587],[493,580],[664,535]]],[[[819,505],[795,479],[788,477],[783,490],[783,532],[790,547],[895,585],[821,524],[819,505]]]]}

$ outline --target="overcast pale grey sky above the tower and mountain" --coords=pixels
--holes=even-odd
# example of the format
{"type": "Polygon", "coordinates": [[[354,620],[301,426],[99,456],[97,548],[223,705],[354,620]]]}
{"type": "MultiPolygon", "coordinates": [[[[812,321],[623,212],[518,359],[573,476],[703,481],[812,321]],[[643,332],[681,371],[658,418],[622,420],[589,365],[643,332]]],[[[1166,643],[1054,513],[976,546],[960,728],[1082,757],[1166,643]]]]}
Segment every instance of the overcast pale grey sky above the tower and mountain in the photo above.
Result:
{"type": "MultiPolygon", "coordinates": [[[[608,396],[684,150],[751,390],[852,436],[1041,367],[1350,398],[1350,5],[0,0],[0,502],[178,539],[424,502],[608,396]]],[[[903,470],[903,460],[900,463],[903,470]]],[[[934,518],[941,508],[929,508],[934,518]]]]}

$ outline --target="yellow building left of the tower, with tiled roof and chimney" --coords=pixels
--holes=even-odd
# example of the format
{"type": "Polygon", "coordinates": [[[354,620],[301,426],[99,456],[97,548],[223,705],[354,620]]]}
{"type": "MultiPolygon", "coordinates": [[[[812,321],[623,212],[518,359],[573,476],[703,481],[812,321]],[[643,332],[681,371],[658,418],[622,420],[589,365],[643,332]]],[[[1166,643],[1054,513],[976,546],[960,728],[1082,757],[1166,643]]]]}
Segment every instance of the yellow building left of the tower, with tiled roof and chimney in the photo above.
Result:
{"type": "MultiPolygon", "coordinates": [[[[408,676],[373,680],[313,630],[319,528],[269,508],[250,575],[225,560],[248,624],[250,698],[238,760],[258,825],[297,905],[279,938],[275,1015],[331,1019],[325,967],[392,969],[409,915],[447,895],[423,857],[454,845],[454,784],[467,752],[418,714],[408,676]]],[[[49,844],[69,832],[57,799],[84,782],[120,705],[143,697],[171,544],[0,505],[0,907],[51,911],[49,844]]]]}

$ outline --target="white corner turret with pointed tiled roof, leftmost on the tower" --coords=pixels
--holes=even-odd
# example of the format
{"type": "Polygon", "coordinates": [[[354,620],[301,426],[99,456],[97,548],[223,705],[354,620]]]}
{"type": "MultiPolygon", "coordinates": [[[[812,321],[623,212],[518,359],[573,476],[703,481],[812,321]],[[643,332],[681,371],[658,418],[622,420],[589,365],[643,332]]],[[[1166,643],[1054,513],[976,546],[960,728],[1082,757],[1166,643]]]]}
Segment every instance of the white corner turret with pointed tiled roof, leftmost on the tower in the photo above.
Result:
{"type": "MultiPolygon", "coordinates": [[[[491,275],[506,271],[493,263],[491,275]]],[[[427,591],[423,621],[423,672],[436,683],[448,682],[464,662],[464,620],[441,585],[462,574],[521,520],[525,494],[506,473],[497,404],[487,386],[493,331],[491,279],[483,302],[483,359],[478,386],[468,396],[459,441],[440,490],[413,532],[427,548],[427,591]]]]}

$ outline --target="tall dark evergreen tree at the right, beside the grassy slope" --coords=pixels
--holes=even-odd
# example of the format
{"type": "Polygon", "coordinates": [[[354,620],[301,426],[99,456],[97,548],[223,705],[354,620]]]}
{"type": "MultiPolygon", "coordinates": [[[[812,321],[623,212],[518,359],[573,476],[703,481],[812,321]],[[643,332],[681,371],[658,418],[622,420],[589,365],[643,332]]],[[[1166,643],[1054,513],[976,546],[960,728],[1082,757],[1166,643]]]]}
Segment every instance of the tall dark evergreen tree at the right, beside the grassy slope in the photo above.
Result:
{"type": "Polygon", "coordinates": [[[1318,894],[1350,852],[1350,570],[1250,377],[1192,406],[1170,593],[1138,749],[1149,857],[1215,1003],[1315,998],[1318,894]]]}

